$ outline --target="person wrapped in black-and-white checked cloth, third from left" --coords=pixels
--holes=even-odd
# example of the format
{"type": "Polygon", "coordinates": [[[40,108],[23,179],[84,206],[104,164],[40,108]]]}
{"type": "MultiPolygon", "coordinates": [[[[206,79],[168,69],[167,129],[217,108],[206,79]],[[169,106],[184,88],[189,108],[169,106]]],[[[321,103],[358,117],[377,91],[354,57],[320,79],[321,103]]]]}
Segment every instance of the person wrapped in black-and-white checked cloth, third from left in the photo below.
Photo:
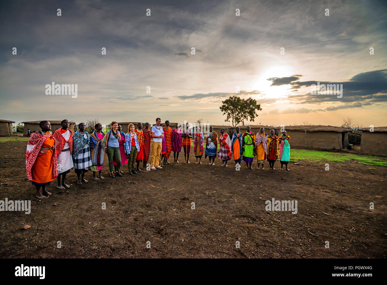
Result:
{"type": "Polygon", "coordinates": [[[86,125],[80,123],[78,125],[79,130],[73,134],[72,159],[75,173],[77,173],[78,177],[78,185],[82,184],[82,182],[87,183],[87,180],[84,178],[85,173],[93,165],[90,157],[89,134],[85,131],[85,128],[86,125]]]}

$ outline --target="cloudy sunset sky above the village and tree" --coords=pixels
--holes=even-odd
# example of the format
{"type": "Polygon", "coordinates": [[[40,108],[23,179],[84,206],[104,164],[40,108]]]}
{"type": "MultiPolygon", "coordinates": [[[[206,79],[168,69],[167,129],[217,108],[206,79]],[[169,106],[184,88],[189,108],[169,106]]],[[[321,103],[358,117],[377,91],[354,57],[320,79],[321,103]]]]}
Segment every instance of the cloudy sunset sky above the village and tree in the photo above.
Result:
{"type": "Polygon", "coordinates": [[[386,1],[15,0],[0,16],[0,119],[231,125],[219,106],[240,96],[262,108],[245,124],[387,125],[386,1]]]}

